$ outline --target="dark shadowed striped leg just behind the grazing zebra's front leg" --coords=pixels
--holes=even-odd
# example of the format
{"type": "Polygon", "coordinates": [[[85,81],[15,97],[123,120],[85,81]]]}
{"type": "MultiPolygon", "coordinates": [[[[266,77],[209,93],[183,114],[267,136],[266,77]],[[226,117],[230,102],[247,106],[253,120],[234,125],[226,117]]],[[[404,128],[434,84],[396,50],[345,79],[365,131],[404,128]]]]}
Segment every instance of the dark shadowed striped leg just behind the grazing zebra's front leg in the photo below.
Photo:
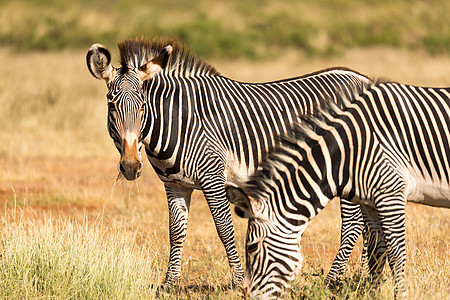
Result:
{"type": "Polygon", "coordinates": [[[386,242],[377,211],[361,205],[364,217],[364,266],[376,284],[378,284],[383,267],[386,264],[386,242]]]}

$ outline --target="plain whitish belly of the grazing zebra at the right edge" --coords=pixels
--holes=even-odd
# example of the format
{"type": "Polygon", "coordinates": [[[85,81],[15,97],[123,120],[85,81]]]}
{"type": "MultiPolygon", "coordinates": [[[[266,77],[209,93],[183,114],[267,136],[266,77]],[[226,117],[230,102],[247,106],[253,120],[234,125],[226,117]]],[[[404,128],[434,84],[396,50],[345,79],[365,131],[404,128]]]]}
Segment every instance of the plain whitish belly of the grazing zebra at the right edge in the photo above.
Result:
{"type": "Polygon", "coordinates": [[[450,208],[450,186],[411,176],[406,192],[409,202],[450,208]]]}

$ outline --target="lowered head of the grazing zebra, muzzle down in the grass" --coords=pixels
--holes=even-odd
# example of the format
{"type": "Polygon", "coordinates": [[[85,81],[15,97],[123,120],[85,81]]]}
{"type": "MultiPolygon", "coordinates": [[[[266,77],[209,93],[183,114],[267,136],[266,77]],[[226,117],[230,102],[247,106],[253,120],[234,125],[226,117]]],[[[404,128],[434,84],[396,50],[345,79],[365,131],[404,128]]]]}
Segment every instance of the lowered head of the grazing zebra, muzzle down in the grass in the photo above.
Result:
{"type": "Polygon", "coordinates": [[[301,233],[283,226],[264,199],[255,199],[231,184],[227,184],[226,192],[228,200],[236,205],[237,215],[248,218],[244,296],[277,298],[302,267],[301,233]]]}

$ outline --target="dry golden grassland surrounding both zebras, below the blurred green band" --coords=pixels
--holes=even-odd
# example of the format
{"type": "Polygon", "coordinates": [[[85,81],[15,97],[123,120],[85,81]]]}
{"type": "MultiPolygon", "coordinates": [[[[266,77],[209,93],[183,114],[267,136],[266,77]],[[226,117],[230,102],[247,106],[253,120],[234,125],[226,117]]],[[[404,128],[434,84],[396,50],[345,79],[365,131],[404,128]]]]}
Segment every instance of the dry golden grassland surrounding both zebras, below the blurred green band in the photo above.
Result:
{"type": "MultiPolygon", "coordinates": [[[[89,74],[85,51],[17,54],[5,47],[0,57],[0,298],[240,299],[228,288],[225,251],[200,192],[191,204],[180,286],[158,292],[169,253],[163,185],[148,162],[137,181],[118,177],[106,87],[89,74]]],[[[370,47],[332,57],[287,50],[269,60],[210,62],[241,81],[339,65],[404,83],[450,85],[450,58],[420,50],[370,47]]],[[[406,214],[409,297],[448,298],[450,211],[408,204],[406,214]]],[[[246,221],[233,213],[233,222],[244,263],[246,221]]],[[[379,287],[365,280],[361,241],[338,288],[325,288],[339,233],[335,200],[304,234],[305,264],[286,299],[392,297],[388,267],[379,287]]]]}

